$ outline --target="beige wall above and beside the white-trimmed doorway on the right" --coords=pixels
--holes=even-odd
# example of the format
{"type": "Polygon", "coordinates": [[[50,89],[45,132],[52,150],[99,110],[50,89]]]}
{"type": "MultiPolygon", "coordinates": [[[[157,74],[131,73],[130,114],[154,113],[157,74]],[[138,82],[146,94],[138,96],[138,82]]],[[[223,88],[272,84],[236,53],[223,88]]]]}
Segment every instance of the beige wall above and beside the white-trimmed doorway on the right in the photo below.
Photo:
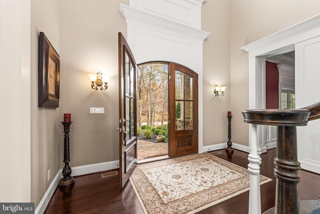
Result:
{"type": "Polygon", "coordinates": [[[248,125],[241,111],[248,108],[248,55],[239,48],[319,14],[320,2],[230,1],[230,109],[232,141],[248,145],[248,125]]]}

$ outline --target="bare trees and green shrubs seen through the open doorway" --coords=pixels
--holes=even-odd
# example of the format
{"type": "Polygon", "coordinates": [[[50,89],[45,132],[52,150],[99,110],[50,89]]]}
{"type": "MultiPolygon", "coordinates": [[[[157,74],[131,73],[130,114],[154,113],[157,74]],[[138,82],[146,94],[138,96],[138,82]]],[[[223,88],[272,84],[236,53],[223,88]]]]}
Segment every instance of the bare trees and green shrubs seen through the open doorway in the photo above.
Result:
{"type": "Polygon", "coordinates": [[[167,142],[168,63],[138,65],[136,92],[138,135],[149,141],[163,135],[167,142]]]}

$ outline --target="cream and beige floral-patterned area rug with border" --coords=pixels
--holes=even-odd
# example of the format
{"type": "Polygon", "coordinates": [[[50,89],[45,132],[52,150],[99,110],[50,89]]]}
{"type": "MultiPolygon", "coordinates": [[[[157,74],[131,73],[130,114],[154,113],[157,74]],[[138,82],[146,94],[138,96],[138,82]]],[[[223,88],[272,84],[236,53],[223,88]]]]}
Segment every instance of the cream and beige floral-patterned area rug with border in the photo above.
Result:
{"type": "Polygon", "coordinates": [[[247,191],[249,172],[205,152],[137,165],[130,182],[144,213],[195,213],[247,191]]]}

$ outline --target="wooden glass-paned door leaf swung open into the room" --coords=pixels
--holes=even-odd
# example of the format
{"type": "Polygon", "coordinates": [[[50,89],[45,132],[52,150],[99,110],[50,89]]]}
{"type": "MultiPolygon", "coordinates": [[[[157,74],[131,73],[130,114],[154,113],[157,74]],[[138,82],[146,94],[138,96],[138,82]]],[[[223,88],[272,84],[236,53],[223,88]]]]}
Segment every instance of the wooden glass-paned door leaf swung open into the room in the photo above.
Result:
{"type": "Polygon", "coordinates": [[[136,65],[128,44],[118,33],[119,63],[119,175],[120,188],[137,164],[136,65]]]}

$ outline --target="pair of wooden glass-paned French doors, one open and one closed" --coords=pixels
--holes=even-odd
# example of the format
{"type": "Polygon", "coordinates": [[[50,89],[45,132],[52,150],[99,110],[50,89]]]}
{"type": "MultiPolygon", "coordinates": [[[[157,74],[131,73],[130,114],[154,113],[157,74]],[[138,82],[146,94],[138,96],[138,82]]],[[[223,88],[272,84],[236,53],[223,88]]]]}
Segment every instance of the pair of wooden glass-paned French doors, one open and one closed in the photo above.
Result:
{"type": "MultiPolygon", "coordinates": [[[[136,63],[123,35],[118,33],[119,70],[119,186],[137,164],[136,63]]],[[[198,152],[198,76],[169,63],[169,156],[198,152]]]]}

